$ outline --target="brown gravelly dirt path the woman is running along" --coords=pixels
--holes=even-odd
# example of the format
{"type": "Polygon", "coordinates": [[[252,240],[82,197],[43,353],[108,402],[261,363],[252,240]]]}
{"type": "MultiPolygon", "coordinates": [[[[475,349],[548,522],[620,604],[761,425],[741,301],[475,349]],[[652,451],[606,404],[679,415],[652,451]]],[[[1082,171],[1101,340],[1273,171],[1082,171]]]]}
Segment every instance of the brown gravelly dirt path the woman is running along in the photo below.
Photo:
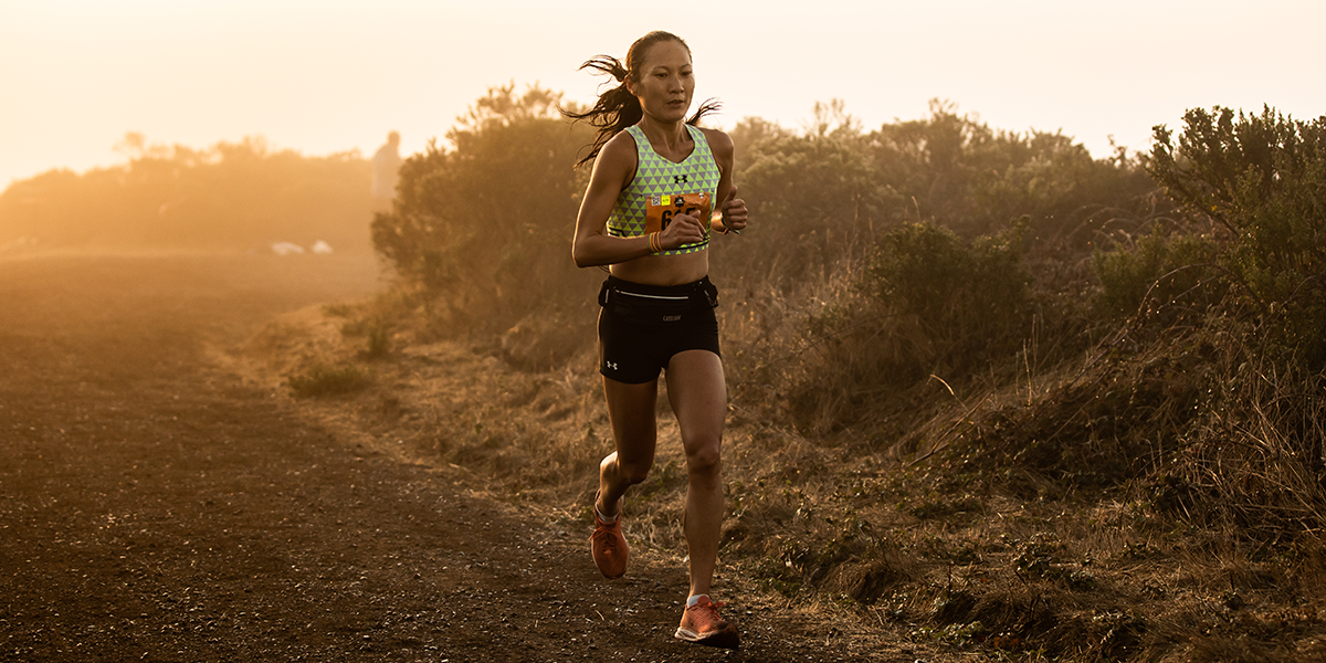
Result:
{"type": "Polygon", "coordinates": [[[676,642],[675,564],[603,581],[585,524],[236,373],[265,321],[377,288],[371,257],[0,260],[0,660],[937,660],[741,578],[740,651],[676,642]]]}

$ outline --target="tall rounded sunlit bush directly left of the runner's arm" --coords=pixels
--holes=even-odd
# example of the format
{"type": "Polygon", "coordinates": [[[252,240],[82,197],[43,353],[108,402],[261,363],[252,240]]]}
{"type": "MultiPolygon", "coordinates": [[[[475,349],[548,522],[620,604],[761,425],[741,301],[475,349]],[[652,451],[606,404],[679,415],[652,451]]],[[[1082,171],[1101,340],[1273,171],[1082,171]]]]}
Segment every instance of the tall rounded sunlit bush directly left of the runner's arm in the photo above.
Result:
{"type": "MultiPolygon", "coordinates": [[[[373,243],[426,286],[434,322],[501,333],[526,316],[591,302],[597,272],[570,259],[589,129],[558,114],[560,95],[495,88],[447,138],[406,160],[399,198],[377,215],[373,243]]],[[[587,314],[587,313],[586,313],[587,314]]]]}

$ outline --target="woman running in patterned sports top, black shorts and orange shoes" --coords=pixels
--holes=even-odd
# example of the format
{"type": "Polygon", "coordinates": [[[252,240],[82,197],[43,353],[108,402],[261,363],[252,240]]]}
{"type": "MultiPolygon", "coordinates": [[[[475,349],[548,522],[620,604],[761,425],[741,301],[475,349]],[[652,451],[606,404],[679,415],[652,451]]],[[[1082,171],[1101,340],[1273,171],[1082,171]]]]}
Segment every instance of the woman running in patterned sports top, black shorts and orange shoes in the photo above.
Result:
{"type": "Polygon", "coordinates": [[[727,233],[747,224],[732,183],[732,139],[693,126],[715,103],[687,119],[695,76],[691,49],[675,34],[651,32],[631,45],[625,62],[599,56],[583,68],[621,84],[589,111],[568,113],[599,127],[581,160],[594,168],[572,255],[578,267],[607,265],[610,273],[599,292],[599,373],[617,451],[599,464],[590,549],[603,575],[626,573],[622,496],[654,464],[663,371],[690,480],[683,526],[691,593],[676,636],[736,648],[736,626],[709,598],[724,509],[727,385],[707,249],[711,229],[727,233]]]}

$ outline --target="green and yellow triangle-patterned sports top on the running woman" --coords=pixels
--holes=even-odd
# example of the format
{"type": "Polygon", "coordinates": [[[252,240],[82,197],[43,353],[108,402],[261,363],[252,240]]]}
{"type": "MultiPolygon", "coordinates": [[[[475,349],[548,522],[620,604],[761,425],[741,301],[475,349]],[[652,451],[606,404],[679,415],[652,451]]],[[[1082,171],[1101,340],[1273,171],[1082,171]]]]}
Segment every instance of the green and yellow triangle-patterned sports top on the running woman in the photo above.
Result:
{"type": "Polygon", "coordinates": [[[695,150],[682,163],[659,156],[639,126],[626,129],[635,139],[635,178],[618,194],[607,217],[607,233],[613,237],[639,237],[667,228],[678,213],[693,215],[704,227],[700,241],[660,251],[655,256],[695,253],[709,245],[709,216],[719,192],[719,164],[713,160],[704,131],[683,126],[695,141],[695,150]]]}

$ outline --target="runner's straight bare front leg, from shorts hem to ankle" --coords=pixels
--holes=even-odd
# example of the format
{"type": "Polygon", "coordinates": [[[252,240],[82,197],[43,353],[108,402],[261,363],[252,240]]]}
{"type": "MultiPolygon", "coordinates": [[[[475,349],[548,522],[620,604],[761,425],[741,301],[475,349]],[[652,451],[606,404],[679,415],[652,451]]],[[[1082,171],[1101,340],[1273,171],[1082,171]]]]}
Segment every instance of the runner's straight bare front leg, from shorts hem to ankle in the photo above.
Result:
{"type": "Polygon", "coordinates": [[[723,361],[708,350],[678,353],[667,367],[667,392],[682,428],[686,469],[686,545],[691,595],[708,594],[723,530],[723,423],[728,387],[723,361]]]}

